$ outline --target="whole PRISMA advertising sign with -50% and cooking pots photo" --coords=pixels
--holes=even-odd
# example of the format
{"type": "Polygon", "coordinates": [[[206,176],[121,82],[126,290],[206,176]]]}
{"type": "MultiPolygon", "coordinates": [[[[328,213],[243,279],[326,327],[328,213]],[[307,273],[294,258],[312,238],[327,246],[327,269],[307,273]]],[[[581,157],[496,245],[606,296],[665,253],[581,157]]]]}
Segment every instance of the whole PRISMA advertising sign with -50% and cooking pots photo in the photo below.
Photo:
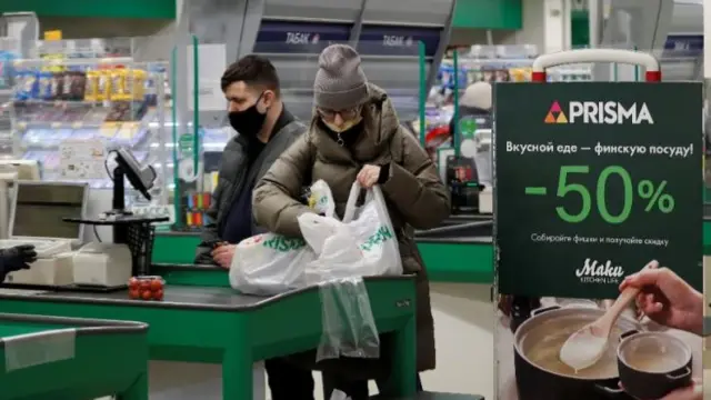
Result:
{"type": "Polygon", "coordinates": [[[498,399],[663,399],[694,390],[701,89],[495,86],[498,399]],[[642,282],[641,296],[625,292],[631,301],[609,337],[583,329],[642,282]],[[594,357],[574,367],[561,348],[581,329],[592,339],[575,354],[594,357]]]}

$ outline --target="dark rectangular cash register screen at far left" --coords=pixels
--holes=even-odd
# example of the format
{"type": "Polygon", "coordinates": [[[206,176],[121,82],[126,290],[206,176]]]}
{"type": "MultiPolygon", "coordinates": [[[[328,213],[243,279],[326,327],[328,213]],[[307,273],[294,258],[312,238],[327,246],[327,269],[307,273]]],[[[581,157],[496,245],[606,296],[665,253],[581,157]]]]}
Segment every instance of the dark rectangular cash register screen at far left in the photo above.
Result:
{"type": "Polygon", "coordinates": [[[84,216],[86,183],[18,181],[10,213],[10,240],[79,241],[83,224],[63,218],[84,216]]]}

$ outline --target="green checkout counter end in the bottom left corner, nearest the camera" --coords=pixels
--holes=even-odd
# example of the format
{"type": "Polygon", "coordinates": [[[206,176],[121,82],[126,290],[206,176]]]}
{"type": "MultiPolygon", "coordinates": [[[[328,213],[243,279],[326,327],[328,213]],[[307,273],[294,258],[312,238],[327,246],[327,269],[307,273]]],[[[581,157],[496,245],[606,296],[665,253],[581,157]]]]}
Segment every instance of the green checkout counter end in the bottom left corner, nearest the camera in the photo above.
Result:
{"type": "Polygon", "coordinates": [[[148,400],[148,326],[0,313],[0,399],[148,400]]]}

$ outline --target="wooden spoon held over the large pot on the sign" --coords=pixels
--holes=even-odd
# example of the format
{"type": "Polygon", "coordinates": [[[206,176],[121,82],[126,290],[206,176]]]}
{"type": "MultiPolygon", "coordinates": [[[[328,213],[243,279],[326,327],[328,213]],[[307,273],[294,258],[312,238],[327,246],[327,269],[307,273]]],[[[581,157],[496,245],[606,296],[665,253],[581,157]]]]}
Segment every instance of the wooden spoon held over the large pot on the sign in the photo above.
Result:
{"type": "MultiPolygon", "coordinates": [[[[657,261],[650,261],[644,269],[658,267],[657,261]]],[[[575,371],[592,367],[598,362],[608,347],[612,327],[627,304],[634,300],[639,292],[640,290],[635,288],[624,289],[602,317],[571,334],[560,349],[560,360],[575,371]]]]}

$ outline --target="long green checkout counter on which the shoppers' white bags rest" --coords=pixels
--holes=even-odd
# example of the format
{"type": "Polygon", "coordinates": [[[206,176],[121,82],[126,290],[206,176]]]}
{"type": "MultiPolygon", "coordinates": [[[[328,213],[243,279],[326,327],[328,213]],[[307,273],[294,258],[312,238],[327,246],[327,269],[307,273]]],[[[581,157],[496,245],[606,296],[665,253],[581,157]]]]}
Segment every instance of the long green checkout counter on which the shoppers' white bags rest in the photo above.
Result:
{"type": "MultiPolygon", "coordinates": [[[[0,292],[0,309],[31,316],[147,323],[150,327],[148,351],[151,360],[222,364],[222,398],[226,400],[253,398],[254,362],[306,351],[319,344],[322,324],[318,288],[260,298],[238,294],[229,287],[206,287],[197,282],[184,284],[200,280],[204,272],[200,268],[172,266],[156,269],[156,272],[161,271],[172,271],[181,278],[176,281],[170,273],[163,274],[167,281],[163,301],[130,300],[128,290],[30,294],[17,291],[0,292]],[[191,276],[196,279],[191,280],[191,276]]],[[[227,277],[223,270],[220,272],[227,277]]],[[[395,364],[389,399],[407,398],[415,386],[414,280],[411,277],[371,278],[365,280],[365,284],[378,330],[395,332],[395,364]]],[[[4,339],[1,327],[0,319],[0,337],[4,339]]],[[[123,347],[108,347],[111,348],[119,351],[123,347]]],[[[94,353],[102,358],[107,351],[94,353]]],[[[78,371],[81,377],[87,373],[88,370],[78,371]]],[[[37,376],[34,378],[38,379],[37,376]]]]}

